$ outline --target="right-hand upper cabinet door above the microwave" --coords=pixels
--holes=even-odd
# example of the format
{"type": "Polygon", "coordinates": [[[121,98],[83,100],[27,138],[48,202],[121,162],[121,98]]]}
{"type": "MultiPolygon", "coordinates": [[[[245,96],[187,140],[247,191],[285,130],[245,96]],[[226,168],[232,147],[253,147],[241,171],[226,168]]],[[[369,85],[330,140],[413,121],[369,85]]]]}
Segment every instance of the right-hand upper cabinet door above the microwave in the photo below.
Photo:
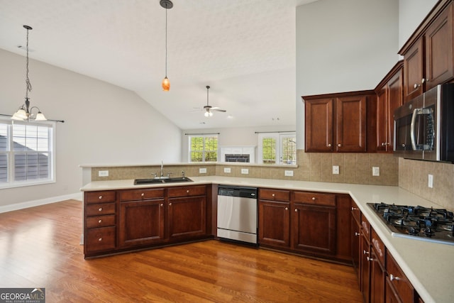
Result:
{"type": "Polygon", "coordinates": [[[426,89],[454,77],[453,4],[441,13],[426,31],[426,89]]]}

